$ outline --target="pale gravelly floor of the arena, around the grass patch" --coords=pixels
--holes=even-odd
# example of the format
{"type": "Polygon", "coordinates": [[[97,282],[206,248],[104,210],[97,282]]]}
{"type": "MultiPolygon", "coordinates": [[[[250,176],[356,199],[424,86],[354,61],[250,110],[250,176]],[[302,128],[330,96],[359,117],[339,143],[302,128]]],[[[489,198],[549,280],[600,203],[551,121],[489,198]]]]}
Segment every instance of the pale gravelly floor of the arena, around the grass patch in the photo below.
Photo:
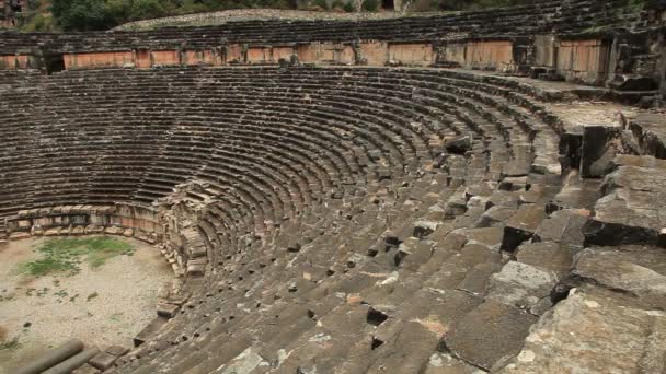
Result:
{"type": "Polygon", "coordinates": [[[96,269],[83,265],[73,277],[38,279],[20,274],[19,264],[39,258],[33,248],[44,238],[0,246],[0,374],[68,339],[87,344],[131,347],[136,336],[156,315],[157,293],[173,272],[160,252],[129,241],[133,256],[118,256],[96,269]],[[7,346],[4,346],[7,347],[7,346]]]}

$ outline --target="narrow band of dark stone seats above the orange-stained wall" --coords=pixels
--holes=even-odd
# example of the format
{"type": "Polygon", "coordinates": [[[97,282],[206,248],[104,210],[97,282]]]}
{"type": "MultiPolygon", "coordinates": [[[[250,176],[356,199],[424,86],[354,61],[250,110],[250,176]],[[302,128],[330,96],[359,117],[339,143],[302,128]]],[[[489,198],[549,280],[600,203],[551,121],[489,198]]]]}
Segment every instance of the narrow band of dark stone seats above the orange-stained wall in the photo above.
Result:
{"type": "Polygon", "coordinates": [[[353,40],[435,40],[451,33],[475,36],[581,33],[592,28],[625,26],[640,20],[640,12],[624,0],[548,1],[524,7],[460,12],[441,16],[370,21],[243,21],[225,26],[165,28],[148,32],[79,34],[0,34],[0,48],[13,55],[21,49],[47,46],[49,50],[127,50],[130,47],[209,48],[225,43],[286,44],[353,40]],[[544,21],[546,20],[546,21],[544,21]]]}

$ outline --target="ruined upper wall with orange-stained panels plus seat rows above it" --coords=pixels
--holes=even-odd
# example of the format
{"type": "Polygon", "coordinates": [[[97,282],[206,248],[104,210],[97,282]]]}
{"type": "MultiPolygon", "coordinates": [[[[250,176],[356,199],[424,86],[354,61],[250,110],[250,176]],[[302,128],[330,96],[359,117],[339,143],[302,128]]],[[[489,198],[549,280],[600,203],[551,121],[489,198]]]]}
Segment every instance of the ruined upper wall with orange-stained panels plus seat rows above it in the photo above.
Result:
{"type": "Polygon", "coordinates": [[[223,26],[72,34],[0,33],[0,68],[47,71],[173,65],[435,66],[655,90],[657,2],[549,1],[448,15],[365,21],[243,21],[223,26]]]}

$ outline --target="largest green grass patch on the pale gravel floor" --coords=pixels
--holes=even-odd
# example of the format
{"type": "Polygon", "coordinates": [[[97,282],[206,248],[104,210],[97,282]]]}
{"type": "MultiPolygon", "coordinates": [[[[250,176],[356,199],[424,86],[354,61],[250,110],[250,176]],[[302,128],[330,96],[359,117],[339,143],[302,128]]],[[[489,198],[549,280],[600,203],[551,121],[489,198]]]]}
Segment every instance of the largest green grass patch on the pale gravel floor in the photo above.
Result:
{"type": "Polygon", "coordinates": [[[134,247],[113,237],[73,237],[54,238],[35,249],[44,257],[19,266],[19,271],[34,277],[51,273],[73,276],[81,270],[81,264],[88,262],[91,268],[99,268],[116,256],[131,256],[134,247]]]}

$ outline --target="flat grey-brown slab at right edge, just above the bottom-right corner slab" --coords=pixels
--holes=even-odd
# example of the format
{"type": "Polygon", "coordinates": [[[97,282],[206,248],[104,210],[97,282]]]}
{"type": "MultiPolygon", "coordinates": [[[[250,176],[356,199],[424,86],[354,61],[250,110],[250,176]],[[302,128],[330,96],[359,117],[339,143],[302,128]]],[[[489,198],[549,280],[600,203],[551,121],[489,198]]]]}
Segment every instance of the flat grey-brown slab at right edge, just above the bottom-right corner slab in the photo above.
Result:
{"type": "Polygon", "coordinates": [[[666,308],[666,250],[654,246],[590,247],[576,255],[570,287],[594,282],[666,308]]]}

